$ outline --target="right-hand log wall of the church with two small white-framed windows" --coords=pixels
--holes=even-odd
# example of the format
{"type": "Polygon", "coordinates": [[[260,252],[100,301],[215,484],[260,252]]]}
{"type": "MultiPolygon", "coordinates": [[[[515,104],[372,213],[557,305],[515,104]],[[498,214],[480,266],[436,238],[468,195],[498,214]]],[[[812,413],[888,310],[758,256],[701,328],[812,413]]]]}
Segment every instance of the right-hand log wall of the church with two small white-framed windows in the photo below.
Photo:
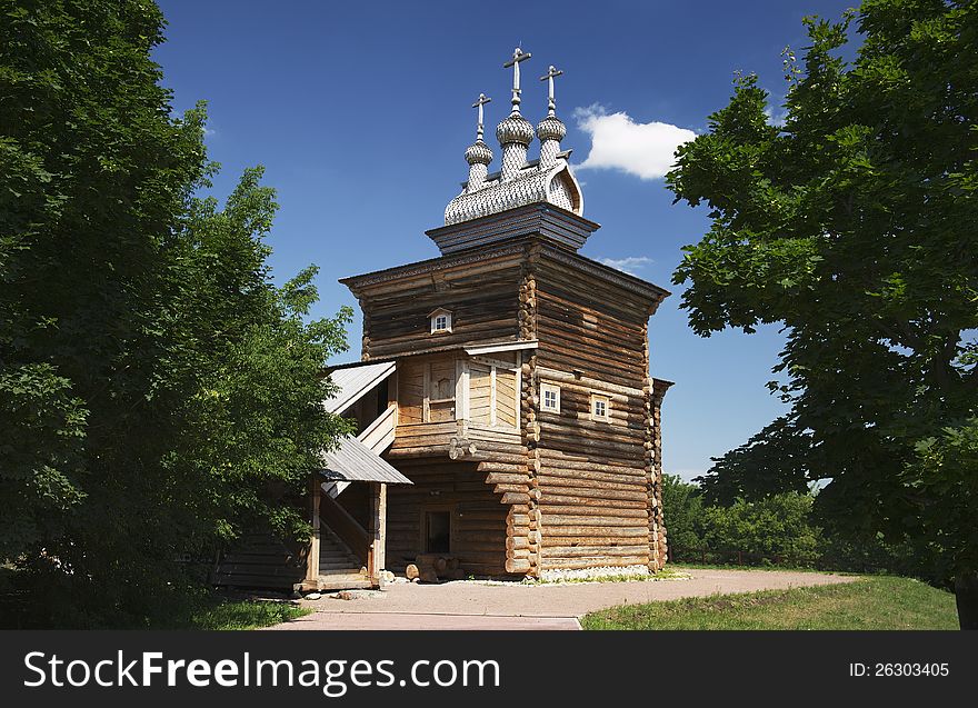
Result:
{"type": "MultiPolygon", "coordinates": [[[[540,569],[657,568],[649,441],[650,303],[582,269],[541,259],[535,273],[537,381],[560,386],[560,412],[535,415],[540,569]],[[590,419],[590,395],[610,420],[590,419]]],[[[658,531],[658,527],[656,527],[658,531]]]]}

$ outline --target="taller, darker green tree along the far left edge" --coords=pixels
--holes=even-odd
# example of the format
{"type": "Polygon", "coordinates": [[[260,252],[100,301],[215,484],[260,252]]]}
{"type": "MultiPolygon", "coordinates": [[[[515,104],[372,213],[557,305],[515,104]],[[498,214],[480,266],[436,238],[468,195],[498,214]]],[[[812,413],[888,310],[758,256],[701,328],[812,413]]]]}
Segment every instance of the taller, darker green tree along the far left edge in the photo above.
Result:
{"type": "Polygon", "coordinates": [[[159,239],[202,174],[150,3],[0,3],[0,556],[62,534],[149,391],[159,239]],[[98,452],[96,452],[98,450],[98,452]],[[94,463],[92,463],[94,462],[94,463]]]}

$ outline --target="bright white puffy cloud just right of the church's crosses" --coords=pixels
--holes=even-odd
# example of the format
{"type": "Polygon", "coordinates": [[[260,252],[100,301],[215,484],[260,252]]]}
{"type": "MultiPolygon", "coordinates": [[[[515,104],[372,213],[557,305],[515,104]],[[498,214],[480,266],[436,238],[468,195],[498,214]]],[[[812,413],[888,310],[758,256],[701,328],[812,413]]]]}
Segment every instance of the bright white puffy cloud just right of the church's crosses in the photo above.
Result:
{"type": "Polygon", "coordinates": [[[672,167],[676,148],[696,133],[670,123],[637,123],[626,112],[608,113],[598,103],[573,111],[591,137],[591,150],[577,169],[617,169],[639,179],[659,179],[672,167]]]}

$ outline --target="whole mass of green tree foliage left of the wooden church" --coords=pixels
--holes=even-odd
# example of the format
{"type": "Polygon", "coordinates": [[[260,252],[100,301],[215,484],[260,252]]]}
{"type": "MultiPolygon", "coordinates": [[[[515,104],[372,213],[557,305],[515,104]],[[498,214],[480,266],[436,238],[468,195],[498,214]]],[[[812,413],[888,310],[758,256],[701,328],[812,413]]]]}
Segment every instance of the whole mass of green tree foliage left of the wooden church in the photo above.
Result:
{"type": "Polygon", "coordinates": [[[260,169],[194,196],[217,166],[203,107],[171,117],[153,3],[0,18],[0,559],[71,621],[138,624],[178,555],[306,530],[350,312],[309,321],[315,268],[273,285],[260,169]]]}

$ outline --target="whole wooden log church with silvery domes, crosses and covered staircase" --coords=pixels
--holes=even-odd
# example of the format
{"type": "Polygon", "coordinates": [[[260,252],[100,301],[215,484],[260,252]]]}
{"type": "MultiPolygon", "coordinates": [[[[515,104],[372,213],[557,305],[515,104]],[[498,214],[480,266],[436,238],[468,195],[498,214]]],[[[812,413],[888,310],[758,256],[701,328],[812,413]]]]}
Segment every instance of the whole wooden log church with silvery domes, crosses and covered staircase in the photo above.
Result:
{"type": "Polygon", "coordinates": [[[362,361],[330,376],[359,435],[310,487],[302,589],[377,586],[428,562],[440,577],[541,577],[666,561],[660,406],[648,319],[669,293],[581,256],[599,226],[548,114],[512,108],[427,232],[430,260],[341,280],[363,313],[362,361]],[[529,160],[532,140],[539,158],[529,160]],[[432,562],[433,559],[433,562],[432,562]]]}

